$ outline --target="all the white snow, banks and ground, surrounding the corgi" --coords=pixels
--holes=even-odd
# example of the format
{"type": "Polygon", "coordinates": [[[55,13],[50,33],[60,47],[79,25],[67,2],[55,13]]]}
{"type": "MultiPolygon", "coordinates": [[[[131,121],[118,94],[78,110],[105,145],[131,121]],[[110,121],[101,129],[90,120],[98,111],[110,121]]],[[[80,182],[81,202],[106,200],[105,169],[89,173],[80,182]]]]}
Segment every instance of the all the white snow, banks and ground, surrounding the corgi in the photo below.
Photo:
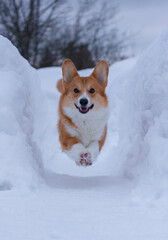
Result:
{"type": "Polygon", "coordinates": [[[87,168],[58,141],[61,68],[35,71],[3,37],[0,52],[0,239],[167,240],[168,32],[110,67],[107,140],[87,168]]]}

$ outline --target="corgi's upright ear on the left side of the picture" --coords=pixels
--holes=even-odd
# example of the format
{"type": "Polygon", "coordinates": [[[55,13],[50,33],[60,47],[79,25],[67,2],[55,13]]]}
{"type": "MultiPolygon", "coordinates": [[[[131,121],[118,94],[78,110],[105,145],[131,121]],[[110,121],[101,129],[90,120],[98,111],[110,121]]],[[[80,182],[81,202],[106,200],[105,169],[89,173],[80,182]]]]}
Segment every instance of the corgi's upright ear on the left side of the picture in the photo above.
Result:
{"type": "Polygon", "coordinates": [[[70,83],[72,79],[79,76],[76,67],[70,59],[65,59],[62,64],[63,82],[70,83]]]}

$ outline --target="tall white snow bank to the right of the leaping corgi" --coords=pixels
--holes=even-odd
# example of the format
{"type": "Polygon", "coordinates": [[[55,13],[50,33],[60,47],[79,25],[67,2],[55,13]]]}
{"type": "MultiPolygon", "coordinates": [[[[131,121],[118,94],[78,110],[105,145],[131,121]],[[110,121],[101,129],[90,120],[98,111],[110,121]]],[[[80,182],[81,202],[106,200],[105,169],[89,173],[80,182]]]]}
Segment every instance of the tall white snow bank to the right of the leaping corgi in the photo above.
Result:
{"type": "Polygon", "coordinates": [[[139,57],[130,71],[116,78],[114,86],[120,109],[112,173],[141,176],[146,184],[155,181],[155,187],[167,187],[168,32],[139,57]],[[124,91],[119,98],[116,93],[123,79],[124,91]]]}

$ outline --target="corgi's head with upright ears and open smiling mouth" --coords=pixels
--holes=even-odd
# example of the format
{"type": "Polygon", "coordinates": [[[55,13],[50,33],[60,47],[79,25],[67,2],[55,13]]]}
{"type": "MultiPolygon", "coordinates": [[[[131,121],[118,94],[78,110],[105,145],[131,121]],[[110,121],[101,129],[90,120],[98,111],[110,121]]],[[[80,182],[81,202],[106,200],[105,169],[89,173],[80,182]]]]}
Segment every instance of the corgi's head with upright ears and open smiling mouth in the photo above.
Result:
{"type": "Polygon", "coordinates": [[[62,66],[63,79],[57,83],[61,92],[60,104],[68,109],[75,109],[79,114],[87,114],[107,107],[105,94],[108,77],[108,65],[99,62],[89,77],[80,77],[74,64],[65,60],[62,66]]]}

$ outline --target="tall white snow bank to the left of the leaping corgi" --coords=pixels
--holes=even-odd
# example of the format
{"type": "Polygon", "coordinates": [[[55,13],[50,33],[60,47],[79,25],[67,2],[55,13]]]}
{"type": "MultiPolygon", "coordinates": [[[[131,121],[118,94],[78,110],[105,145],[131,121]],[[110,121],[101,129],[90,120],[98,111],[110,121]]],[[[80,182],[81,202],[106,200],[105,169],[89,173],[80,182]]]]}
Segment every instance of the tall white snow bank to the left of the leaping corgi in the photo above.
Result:
{"type": "Polygon", "coordinates": [[[0,189],[34,186],[43,100],[36,71],[0,36],[0,189]],[[40,104],[39,104],[40,103],[40,104]]]}

